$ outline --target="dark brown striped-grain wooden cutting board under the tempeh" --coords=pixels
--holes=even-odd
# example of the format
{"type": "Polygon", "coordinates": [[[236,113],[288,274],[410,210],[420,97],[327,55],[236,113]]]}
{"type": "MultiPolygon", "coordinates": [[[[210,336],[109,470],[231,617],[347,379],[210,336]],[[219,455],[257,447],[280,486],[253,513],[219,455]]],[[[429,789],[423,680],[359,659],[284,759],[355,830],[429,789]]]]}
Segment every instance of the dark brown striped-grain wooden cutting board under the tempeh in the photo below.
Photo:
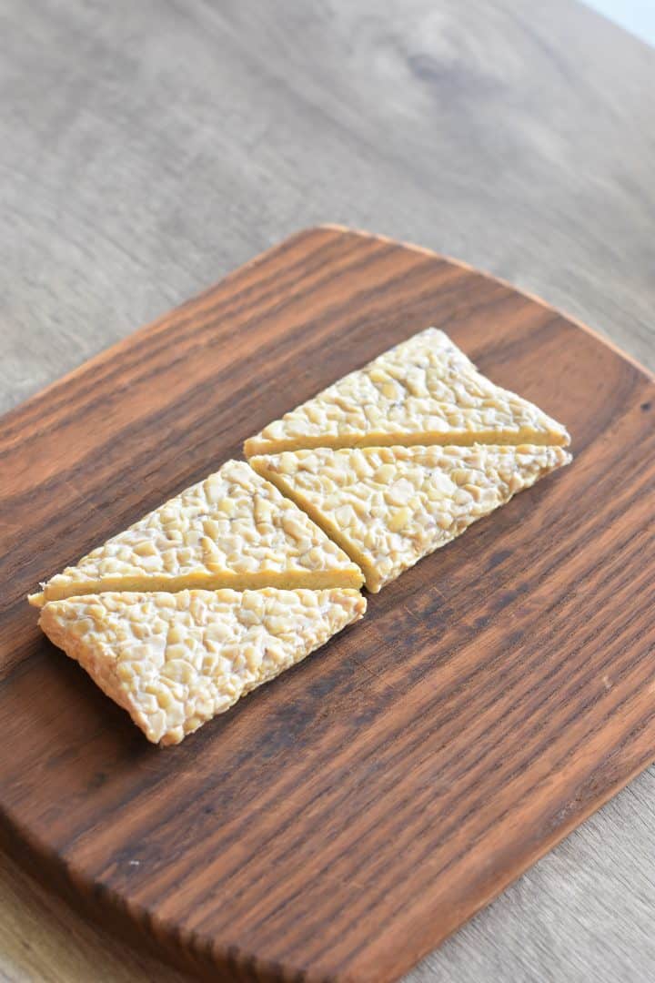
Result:
{"type": "Polygon", "coordinates": [[[655,758],[654,419],[652,381],[589,330],[333,227],[37,395],[0,423],[5,846],[209,978],[395,979],[655,758]],[[147,744],[27,591],[428,324],[567,424],[573,464],[147,744]]]}

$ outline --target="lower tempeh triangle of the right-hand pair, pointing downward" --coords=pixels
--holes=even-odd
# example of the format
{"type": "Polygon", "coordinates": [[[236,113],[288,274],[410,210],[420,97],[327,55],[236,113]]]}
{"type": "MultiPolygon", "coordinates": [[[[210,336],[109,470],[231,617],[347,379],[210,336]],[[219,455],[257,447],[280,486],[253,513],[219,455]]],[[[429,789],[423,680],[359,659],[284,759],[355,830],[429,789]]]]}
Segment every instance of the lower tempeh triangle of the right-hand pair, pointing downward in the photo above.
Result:
{"type": "Polygon", "coordinates": [[[253,457],[377,592],[476,519],[568,464],[561,447],[362,447],[253,457]]]}

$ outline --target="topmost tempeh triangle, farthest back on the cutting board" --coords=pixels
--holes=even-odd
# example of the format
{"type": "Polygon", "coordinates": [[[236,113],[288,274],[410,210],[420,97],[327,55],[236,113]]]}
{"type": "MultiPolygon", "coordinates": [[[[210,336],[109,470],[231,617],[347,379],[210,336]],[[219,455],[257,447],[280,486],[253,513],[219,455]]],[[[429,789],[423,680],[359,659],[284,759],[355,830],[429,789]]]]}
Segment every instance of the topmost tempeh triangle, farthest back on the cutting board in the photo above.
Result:
{"type": "Polygon", "coordinates": [[[447,334],[428,327],[269,424],[245,451],[569,442],[562,424],[482,376],[447,334]]]}

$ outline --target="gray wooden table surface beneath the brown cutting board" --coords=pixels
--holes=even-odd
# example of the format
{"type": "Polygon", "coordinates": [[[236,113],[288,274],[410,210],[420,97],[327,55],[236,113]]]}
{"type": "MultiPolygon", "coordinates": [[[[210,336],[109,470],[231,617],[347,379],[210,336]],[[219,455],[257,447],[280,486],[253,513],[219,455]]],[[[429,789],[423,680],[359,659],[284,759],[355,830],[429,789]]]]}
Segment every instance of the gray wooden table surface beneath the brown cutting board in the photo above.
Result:
{"type": "MultiPolygon", "coordinates": [[[[0,202],[0,409],[319,222],[655,367],[655,51],[573,0],[0,0],[0,202]]],[[[651,771],[410,979],[641,983],[654,912],[651,771]]],[[[0,979],[155,977],[1,860],[0,979]]]]}

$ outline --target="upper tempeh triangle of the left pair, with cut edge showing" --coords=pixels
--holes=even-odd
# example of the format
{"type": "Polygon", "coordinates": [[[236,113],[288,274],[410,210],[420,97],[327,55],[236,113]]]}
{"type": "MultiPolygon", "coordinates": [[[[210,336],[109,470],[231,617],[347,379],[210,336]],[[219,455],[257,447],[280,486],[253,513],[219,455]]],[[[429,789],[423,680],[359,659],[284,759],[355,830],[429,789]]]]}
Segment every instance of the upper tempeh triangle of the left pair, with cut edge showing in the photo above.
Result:
{"type": "Polygon", "coordinates": [[[359,587],[361,571],[244,461],[150,512],[43,585],[30,603],[100,591],[359,587]]]}

